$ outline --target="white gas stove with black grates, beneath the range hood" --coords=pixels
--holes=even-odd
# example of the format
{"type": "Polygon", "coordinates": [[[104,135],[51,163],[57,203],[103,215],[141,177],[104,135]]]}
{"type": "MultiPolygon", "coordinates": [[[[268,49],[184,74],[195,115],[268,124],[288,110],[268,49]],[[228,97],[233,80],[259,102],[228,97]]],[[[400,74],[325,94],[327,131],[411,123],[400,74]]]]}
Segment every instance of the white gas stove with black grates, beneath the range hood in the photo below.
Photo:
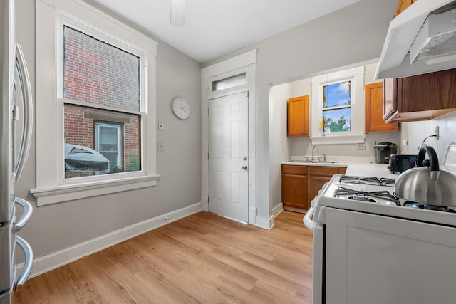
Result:
{"type": "Polygon", "coordinates": [[[336,174],[312,201],[312,303],[454,303],[455,208],[398,199],[394,182],[336,174]]]}

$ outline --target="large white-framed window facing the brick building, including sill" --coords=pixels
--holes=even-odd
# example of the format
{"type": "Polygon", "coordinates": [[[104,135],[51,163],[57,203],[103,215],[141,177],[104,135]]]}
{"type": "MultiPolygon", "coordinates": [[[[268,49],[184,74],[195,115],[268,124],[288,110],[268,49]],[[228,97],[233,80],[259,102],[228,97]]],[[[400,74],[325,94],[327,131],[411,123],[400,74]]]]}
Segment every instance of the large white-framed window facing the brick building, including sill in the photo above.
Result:
{"type": "Polygon", "coordinates": [[[156,184],[156,47],[83,1],[36,2],[38,206],[156,184]],[[110,169],[66,166],[68,145],[110,169]]]}

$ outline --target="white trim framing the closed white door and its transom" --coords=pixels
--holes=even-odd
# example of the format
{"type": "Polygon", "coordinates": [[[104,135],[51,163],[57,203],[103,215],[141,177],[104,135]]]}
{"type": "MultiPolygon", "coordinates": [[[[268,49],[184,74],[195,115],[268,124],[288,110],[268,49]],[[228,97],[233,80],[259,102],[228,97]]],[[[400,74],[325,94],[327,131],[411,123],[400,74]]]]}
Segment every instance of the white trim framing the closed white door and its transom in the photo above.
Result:
{"type": "MultiPolygon", "coordinates": [[[[214,98],[217,93],[209,91],[211,81],[214,78],[223,78],[224,74],[227,76],[232,75],[237,70],[245,70],[247,72],[247,84],[242,90],[249,92],[249,224],[256,225],[257,222],[257,150],[256,150],[256,108],[257,108],[257,50],[249,51],[239,56],[227,59],[225,61],[209,65],[201,70],[201,201],[202,209],[209,211],[209,99],[214,98]]],[[[231,95],[234,91],[239,92],[239,88],[234,90],[227,90],[223,95],[231,95]]]]}

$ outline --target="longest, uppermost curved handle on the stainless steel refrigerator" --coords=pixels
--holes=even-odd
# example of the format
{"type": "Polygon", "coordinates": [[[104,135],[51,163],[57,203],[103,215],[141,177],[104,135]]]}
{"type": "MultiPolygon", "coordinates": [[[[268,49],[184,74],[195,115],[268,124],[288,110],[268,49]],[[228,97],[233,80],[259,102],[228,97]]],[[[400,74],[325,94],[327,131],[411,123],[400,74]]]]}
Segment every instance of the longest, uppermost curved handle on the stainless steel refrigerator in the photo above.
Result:
{"type": "Polygon", "coordinates": [[[27,162],[28,151],[30,150],[31,135],[33,127],[33,101],[31,98],[30,78],[28,78],[28,70],[24,53],[21,46],[16,44],[16,69],[19,75],[19,83],[24,103],[24,119],[22,120],[22,139],[19,147],[18,157],[16,159],[16,182],[21,180],[24,167],[27,162]]]}

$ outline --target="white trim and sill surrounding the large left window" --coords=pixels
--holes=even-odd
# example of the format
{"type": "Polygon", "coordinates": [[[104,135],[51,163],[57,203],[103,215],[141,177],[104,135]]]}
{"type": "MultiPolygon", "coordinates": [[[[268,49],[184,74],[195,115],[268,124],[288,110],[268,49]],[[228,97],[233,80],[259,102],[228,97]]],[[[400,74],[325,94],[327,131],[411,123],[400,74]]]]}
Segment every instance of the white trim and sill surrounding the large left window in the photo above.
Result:
{"type": "Polygon", "coordinates": [[[156,56],[155,41],[81,0],[36,1],[36,189],[31,193],[38,206],[157,184],[160,175],[156,173],[155,151],[156,56]],[[57,34],[62,22],[79,23],[78,26],[83,23],[87,26],[85,30],[96,29],[97,33],[103,33],[103,39],[120,39],[127,50],[144,54],[145,60],[140,62],[142,83],[145,83],[140,92],[141,99],[145,100],[141,110],[144,113],[141,171],[90,177],[93,180],[64,178],[63,86],[58,83],[58,75],[63,70],[63,61],[58,55],[63,35],[57,34]]]}

